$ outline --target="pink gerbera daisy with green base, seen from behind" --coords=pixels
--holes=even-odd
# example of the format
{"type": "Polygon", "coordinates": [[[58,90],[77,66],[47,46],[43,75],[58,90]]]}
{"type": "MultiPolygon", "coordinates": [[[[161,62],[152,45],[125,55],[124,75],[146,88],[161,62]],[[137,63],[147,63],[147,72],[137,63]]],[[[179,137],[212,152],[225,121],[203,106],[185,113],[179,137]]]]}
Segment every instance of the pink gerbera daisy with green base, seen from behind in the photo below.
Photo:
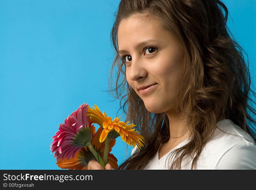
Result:
{"type": "Polygon", "coordinates": [[[57,131],[52,139],[50,150],[54,153],[56,161],[67,158],[74,158],[76,153],[82,147],[91,142],[92,136],[90,131],[90,117],[86,116],[88,104],[83,103],[78,110],[71,113],[65,119],[65,123],[61,123],[59,131],[57,131]]]}

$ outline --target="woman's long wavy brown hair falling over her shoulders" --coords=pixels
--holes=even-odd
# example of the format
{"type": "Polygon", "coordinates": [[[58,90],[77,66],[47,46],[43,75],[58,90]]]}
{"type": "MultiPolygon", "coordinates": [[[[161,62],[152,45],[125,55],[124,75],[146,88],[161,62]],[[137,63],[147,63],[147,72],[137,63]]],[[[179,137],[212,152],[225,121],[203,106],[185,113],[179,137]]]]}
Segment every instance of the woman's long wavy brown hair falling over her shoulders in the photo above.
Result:
{"type": "Polygon", "coordinates": [[[120,99],[126,121],[136,124],[146,143],[118,169],[143,169],[160,145],[170,138],[167,115],[147,111],[142,99],[127,83],[125,64],[118,54],[119,23],[134,14],[159,19],[185,48],[186,64],[183,64],[176,111],[186,114],[191,140],[175,150],[175,160],[169,168],[181,169],[182,158],[190,155],[193,169],[202,147],[216,130],[218,117],[232,120],[255,140],[256,130],[252,125],[256,124],[252,117],[256,115],[252,107],[255,102],[249,97],[249,93],[255,96],[255,92],[250,88],[245,51],[226,26],[227,7],[219,0],[121,0],[111,31],[116,55],[109,89],[113,97],[120,99]],[[114,88],[112,78],[116,80],[114,88]]]}

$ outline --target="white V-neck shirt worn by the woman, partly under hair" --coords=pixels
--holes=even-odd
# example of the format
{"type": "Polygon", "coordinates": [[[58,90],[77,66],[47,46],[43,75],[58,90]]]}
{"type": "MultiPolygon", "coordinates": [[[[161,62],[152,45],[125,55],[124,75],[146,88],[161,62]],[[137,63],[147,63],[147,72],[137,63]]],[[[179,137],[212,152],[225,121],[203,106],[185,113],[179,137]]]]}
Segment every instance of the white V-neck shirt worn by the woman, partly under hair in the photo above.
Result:
{"type": "MultiPolygon", "coordinates": [[[[256,169],[256,145],[253,138],[229,119],[217,122],[216,126],[226,133],[216,129],[214,136],[203,147],[193,169],[256,169]]],[[[167,169],[168,154],[188,142],[189,139],[184,140],[160,159],[157,151],[144,169],[167,169]]],[[[184,157],[181,169],[191,169],[191,164],[191,157],[184,157]]]]}

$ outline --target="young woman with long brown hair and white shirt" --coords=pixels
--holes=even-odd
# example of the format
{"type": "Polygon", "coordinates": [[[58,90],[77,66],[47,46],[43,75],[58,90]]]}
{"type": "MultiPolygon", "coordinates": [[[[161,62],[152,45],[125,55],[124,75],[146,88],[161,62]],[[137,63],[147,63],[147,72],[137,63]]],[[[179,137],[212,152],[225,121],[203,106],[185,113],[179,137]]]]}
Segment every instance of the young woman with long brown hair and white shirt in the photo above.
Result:
{"type": "Polygon", "coordinates": [[[255,93],[227,15],[219,0],[121,0],[110,86],[117,66],[113,95],[146,143],[118,169],[256,169],[255,93]]]}

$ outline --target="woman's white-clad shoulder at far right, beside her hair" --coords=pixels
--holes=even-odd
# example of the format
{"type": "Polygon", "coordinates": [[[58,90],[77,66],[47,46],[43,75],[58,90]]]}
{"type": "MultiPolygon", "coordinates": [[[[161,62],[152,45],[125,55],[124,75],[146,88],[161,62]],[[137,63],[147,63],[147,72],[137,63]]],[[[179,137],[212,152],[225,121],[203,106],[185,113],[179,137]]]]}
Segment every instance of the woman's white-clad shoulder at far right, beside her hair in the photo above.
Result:
{"type": "Polygon", "coordinates": [[[255,141],[232,120],[222,120],[202,149],[199,165],[211,169],[256,169],[255,141]]]}

